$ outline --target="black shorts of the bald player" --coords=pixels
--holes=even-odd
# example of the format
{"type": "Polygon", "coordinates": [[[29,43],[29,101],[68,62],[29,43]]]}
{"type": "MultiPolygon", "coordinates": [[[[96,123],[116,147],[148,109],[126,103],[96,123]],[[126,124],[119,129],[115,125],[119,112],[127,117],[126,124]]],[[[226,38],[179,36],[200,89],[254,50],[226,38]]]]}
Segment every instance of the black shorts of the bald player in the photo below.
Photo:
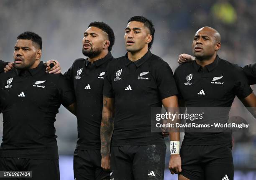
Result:
{"type": "Polygon", "coordinates": [[[231,143],[182,145],[181,174],[190,180],[233,180],[234,165],[231,150],[231,143]]]}

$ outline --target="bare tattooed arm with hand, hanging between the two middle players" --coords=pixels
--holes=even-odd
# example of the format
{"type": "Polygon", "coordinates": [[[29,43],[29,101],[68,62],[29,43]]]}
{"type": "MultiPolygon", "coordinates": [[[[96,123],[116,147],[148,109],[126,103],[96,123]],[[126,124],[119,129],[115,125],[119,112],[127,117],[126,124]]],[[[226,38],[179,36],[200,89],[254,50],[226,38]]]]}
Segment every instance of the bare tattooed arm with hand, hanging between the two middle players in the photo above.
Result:
{"type": "Polygon", "coordinates": [[[114,98],[103,96],[102,120],[100,124],[101,167],[110,170],[110,141],[114,129],[114,98]]]}

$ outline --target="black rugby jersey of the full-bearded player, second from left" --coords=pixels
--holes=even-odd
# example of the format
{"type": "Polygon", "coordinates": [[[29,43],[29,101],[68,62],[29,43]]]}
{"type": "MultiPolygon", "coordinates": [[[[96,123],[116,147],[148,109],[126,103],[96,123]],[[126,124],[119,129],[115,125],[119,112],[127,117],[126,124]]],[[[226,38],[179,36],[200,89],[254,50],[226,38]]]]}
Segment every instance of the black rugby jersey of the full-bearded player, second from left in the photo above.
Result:
{"type": "Polygon", "coordinates": [[[103,82],[106,67],[112,59],[111,53],[92,64],[88,59],[79,58],[64,74],[77,99],[76,148],[79,150],[100,149],[103,82]]]}

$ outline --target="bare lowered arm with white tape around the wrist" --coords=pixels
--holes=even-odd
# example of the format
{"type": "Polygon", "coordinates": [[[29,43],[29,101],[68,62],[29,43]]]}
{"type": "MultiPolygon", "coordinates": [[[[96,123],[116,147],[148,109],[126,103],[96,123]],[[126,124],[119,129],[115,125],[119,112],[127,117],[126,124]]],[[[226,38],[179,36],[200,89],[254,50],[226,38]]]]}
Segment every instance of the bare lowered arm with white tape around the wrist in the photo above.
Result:
{"type": "MultiPolygon", "coordinates": [[[[162,104],[163,106],[166,108],[166,110],[172,114],[175,114],[176,112],[179,113],[178,110],[178,98],[177,96],[170,96],[168,98],[162,99],[162,104]]],[[[168,119],[167,119],[168,122],[168,119]]],[[[179,123],[179,119],[174,119],[173,122],[169,122],[169,123],[179,123]]],[[[177,174],[179,172],[182,171],[181,169],[181,158],[179,155],[179,136],[180,136],[180,132],[179,132],[179,128],[173,128],[169,130],[169,137],[170,137],[170,145],[172,146],[172,144],[175,146],[175,150],[176,152],[171,150],[171,157],[169,160],[169,169],[171,171],[172,174],[177,174]]],[[[172,149],[172,148],[171,148],[172,149]]]]}

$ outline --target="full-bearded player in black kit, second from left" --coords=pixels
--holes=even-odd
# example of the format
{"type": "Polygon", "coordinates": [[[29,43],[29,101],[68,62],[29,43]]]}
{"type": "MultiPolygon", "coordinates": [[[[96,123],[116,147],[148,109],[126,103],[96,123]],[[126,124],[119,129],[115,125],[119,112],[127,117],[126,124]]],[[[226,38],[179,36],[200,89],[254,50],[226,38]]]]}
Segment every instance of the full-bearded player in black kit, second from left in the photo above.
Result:
{"type": "Polygon", "coordinates": [[[82,53],[64,77],[73,87],[77,99],[78,139],[74,151],[76,180],[109,180],[110,172],[101,167],[100,123],[105,70],[113,59],[110,51],[115,35],[109,25],[92,22],[84,32],[82,53]]]}

